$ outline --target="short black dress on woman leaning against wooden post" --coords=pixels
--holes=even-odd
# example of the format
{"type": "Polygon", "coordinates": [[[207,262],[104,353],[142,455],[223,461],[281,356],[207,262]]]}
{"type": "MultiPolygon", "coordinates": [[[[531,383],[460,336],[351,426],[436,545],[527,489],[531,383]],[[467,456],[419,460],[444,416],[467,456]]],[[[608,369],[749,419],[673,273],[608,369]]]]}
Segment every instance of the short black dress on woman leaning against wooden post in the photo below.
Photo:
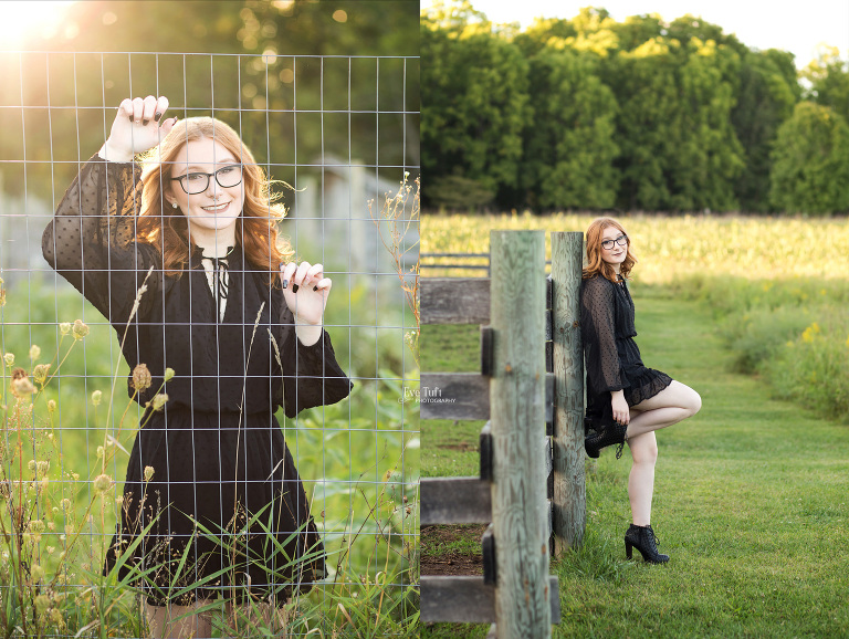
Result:
{"type": "Polygon", "coordinates": [[[587,415],[612,420],[610,391],[628,406],[654,397],[672,378],[647,368],[633,337],[633,301],[628,284],[595,275],[580,284],[580,336],[587,367],[587,415]]]}

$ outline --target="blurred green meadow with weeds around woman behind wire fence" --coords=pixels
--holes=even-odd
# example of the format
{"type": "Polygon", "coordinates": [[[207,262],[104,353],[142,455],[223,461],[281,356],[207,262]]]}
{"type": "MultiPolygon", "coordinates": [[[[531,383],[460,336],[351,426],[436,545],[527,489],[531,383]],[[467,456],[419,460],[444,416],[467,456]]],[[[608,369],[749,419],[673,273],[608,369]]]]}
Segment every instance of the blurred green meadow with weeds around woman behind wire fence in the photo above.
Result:
{"type": "MultiPolygon", "coordinates": [[[[0,291],[0,633],[143,636],[132,589],[99,575],[140,416],[127,396],[115,332],[52,277],[0,291]],[[18,367],[29,373],[32,395],[11,390],[18,367]]],[[[368,311],[379,308],[377,294],[335,286],[337,302],[325,316],[355,380],[352,397],[297,419],[277,416],[331,573],[290,606],[292,632],[401,636],[417,617],[418,523],[410,506],[418,494],[418,418],[399,401],[417,373],[399,327],[400,302],[378,320],[368,311]]]]}

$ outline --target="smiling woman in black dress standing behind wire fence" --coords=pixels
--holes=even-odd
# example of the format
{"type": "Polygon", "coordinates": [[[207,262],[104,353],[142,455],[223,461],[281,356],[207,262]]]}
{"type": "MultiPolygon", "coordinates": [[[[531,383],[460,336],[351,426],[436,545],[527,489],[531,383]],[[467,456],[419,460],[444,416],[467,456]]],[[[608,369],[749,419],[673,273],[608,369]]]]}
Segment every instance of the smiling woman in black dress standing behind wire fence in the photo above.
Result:
{"type": "Polygon", "coordinates": [[[332,282],[321,264],[293,261],[250,150],[227,124],[165,119],[167,108],[154,96],[120,104],[42,244],[117,332],[136,373],[129,395],[145,407],[104,572],[120,557],[122,575],[146,573],[153,636],[209,637],[192,610],[216,595],[268,610],[324,576],[274,412],[334,404],[350,383],[322,326],[332,282]],[[134,158],[150,149],[142,170],[134,158]],[[167,401],[155,409],[158,391],[167,401]]]}

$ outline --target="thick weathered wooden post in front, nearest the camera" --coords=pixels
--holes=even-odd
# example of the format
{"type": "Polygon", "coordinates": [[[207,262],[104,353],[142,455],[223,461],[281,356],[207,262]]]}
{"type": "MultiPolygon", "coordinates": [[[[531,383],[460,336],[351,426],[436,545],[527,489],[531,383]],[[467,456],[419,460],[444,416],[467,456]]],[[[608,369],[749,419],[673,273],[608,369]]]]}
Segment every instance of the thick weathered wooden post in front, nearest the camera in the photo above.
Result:
{"type": "Polygon", "coordinates": [[[496,636],[549,637],[545,464],[545,235],[492,231],[492,522],[496,636]]]}

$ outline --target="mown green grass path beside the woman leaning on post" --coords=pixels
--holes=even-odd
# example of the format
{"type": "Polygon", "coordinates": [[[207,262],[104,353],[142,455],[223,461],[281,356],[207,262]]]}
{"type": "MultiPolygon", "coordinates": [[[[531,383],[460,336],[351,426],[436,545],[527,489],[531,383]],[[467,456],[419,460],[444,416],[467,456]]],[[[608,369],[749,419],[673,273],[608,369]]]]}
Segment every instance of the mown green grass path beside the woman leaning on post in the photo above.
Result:
{"type": "MultiPolygon", "coordinates": [[[[635,301],[646,364],[703,399],[658,433],[652,525],[671,561],[625,559],[630,461],[606,450],[587,464],[586,543],[552,563],[554,636],[849,637],[849,428],[729,373],[710,310],[647,289],[635,301]]],[[[426,433],[422,444],[424,470],[426,433]]],[[[422,632],[458,636],[485,628],[422,632]]]]}

